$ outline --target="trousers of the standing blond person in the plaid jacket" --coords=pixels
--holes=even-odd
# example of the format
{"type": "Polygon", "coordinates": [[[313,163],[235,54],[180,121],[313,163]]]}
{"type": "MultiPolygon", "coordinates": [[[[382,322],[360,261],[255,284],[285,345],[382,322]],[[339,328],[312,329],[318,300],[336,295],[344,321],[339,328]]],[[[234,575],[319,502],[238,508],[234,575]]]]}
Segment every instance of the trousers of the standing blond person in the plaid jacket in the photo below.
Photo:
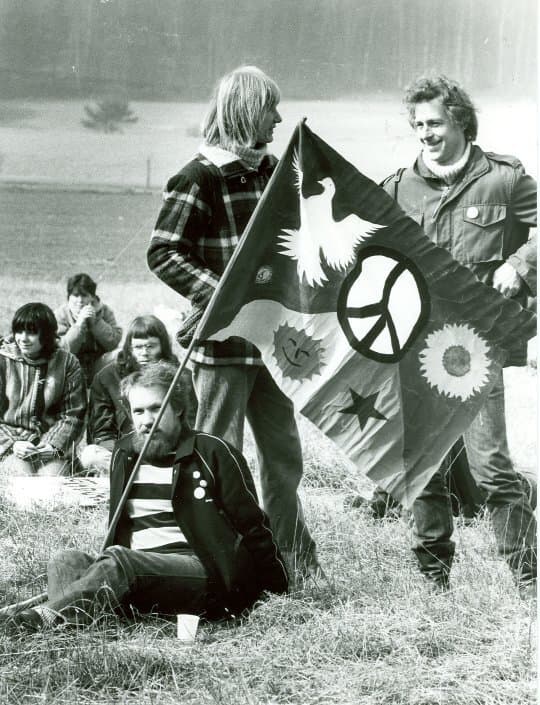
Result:
{"type": "Polygon", "coordinates": [[[298,485],[302,448],[294,406],[265,367],[193,365],[199,400],[195,427],[242,450],[244,418],[257,446],[263,507],[289,567],[306,567],[315,543],[306,527],[298,485]]]}

